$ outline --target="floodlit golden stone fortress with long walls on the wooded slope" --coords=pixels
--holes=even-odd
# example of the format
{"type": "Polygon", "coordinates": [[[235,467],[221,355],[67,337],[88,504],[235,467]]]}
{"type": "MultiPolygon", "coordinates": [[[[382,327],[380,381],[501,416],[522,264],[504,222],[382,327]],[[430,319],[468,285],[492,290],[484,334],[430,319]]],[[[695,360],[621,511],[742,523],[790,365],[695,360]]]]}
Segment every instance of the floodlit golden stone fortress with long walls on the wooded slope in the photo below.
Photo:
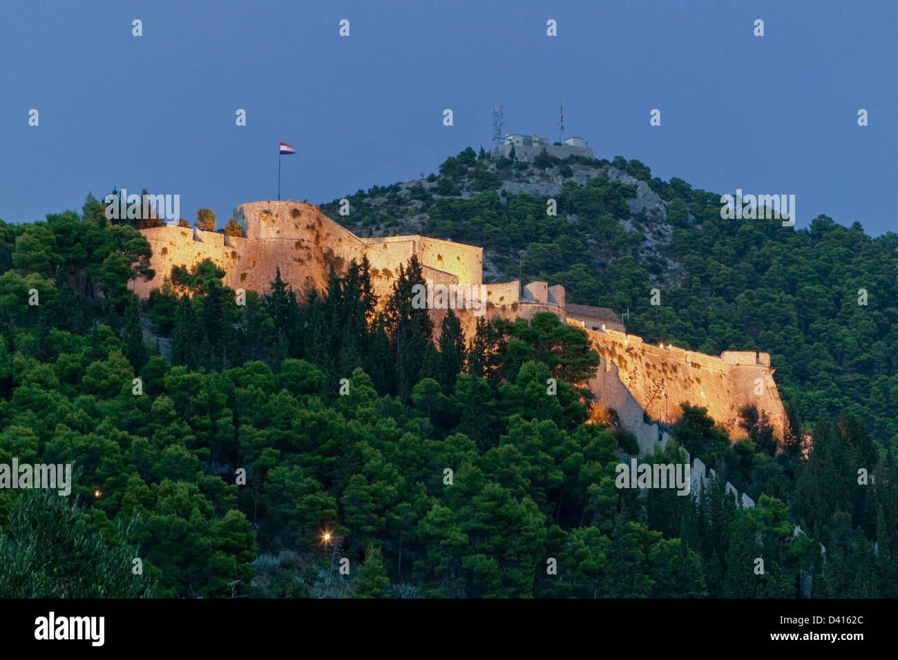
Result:
{"type": "MultiPolygon", "coordinates": [[[[342,274],[350,261],[361,261],[363,256],[371,263],[374,292],[380,296],[390,293],[400,266],[412,255],[418,257],[425,279],[435,284],[483,284],[483,248],[472,245],[417,234],[360,238],[318,207],[295,201],[242,204],[234,209],[234,219],[243,236],[171,225],[141,230],[153,249],[150,263],[155,277],[138,278],[136,294],[145,299],[175,266],[190,268],[206,259],[225,270],[226,286],[260,293],[270,290],[278,268],[297,293],[325,290],[331,266],[342,274]]],[[[707,408],[732,437],[744,436],[738,409],[752,403],[767,415],[774,434],[783,435],[786,414],[767,353],[724,351],[718,357],[651,346],[629,335],[612,310],[568,304],[564,286],[547,282],[521,286],[518,280],[484,286],[489,319],[529,319],[537,312],[552,312],[586,330],[602,358],[588,386],[596,400],[615,409],[621,424],[637,436],[641,453],[665,440],[649,419],[671,423],[685,401],[707,408]]],[[[438,328],[446,312],[431,313],[438,328]]],[[[468,310],[457,313],[470,339],[476,319],[468,310]]]]}

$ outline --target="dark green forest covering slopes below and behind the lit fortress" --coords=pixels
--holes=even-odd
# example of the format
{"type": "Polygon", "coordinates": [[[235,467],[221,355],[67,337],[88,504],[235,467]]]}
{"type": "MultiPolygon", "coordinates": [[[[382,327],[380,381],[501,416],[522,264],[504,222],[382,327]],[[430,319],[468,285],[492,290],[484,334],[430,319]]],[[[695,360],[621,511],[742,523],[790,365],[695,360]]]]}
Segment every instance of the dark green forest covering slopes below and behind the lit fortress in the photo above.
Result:
{"type": "MultiPolygon", "coordinates": [[[[649,460],[699,456],[721,479],[700,502],[640,500],[615,487],[632,437],[577,390],[598,356],[554,315],[465,338],[450,314],[435,344],[410,304],[415,260],[383,313],[365,263],[320,294],[278,278],[238,305],[204,262],[173,274],[191,297],[165,286],[142,308],[128,285],[148,246],[89,197],[80,215],[0,224],[0,463],[74,462],[78,497],[0,490],[0,596],[793,597],[802,569],[814,595],[896,595],[894,234],[736,226],[634,162],[549,163],[570,176],[546,216],[544,199],[490,188],[519,166],[447,163],[443,193],[415,193],[425,233],[483,242],[497,274],[524,268],[573,302],[629,305],[647,339],[770,350],[794,433],[772,442],[749,410],[730,444],[687,407],[649,460]],[[615,172],[664,213],[629,211],[638,187],[615,172]],[[670,242],[647,251],[638,223],[670,224],[670,242]],[[757,506],[735,509],[725,480],[757,506]]],[[[403,198],[352,204],[376,227],[403,198]]]]}

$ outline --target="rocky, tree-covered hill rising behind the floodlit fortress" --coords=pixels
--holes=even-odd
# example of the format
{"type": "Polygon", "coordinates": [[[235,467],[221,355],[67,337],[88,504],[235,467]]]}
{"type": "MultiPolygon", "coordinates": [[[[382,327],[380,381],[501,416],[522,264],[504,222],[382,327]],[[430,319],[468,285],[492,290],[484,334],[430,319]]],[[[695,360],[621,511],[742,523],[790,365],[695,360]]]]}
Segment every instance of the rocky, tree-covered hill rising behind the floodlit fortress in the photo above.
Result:
{"type": "Polygon", "coordinates": [[[767,351],[793,414],[845,411],[885,446],[898,440],[895,233],[873,238],[827,216],[798,230],[724,220],[718,193],[652,178],[621,156],[513,163],[469,147],[438,175],[347,198],[349,216],[339,200],[321,210],[360,236],[482,245],[486,281],[520,272],[564,285],[569,302],[629,309],[628,330],[649,342],[767,351]]]}

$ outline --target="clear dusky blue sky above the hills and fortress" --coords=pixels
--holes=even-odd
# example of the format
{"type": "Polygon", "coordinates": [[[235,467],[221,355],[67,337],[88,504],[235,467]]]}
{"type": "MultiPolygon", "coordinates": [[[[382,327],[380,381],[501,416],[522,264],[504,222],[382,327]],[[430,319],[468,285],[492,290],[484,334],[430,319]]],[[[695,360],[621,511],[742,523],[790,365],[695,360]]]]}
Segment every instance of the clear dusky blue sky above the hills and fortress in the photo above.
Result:
{"type": "Polygon", "coordinates": [[[564,100],[566,135],[596,157],[795,194],[797,226],[898,231],[896,25],[893,0],[4,4],[0,218],[118,186],[180,194],[181,216],[211,207],[221,226],[277,197],[278,140],[299,152],[282,198],[323,203],[489,148],[494,103],[506,132],[557,139],[564,100]]]}

